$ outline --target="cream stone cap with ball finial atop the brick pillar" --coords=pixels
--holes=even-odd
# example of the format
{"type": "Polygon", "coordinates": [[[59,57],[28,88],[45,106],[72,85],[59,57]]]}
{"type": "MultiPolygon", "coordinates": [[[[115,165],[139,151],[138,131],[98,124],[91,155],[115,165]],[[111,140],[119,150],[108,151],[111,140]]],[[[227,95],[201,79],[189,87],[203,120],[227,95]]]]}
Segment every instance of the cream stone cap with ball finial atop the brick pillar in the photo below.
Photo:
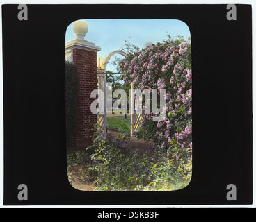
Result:
{"type": "Polygon", "coordinates": [[[95,52],[101,50],[101,48],[99,46],[95,46],[93,42],[89,42],[84,39],[86,33],[88,32],[88,24],[86,22],[83,22],[81,20],[74,22],[73,31],[76,34],[77,38],[75,40],[72,40],[71,42],[67,42],[67,44],[65,45],[66,51],[74,48],[95,52]]]}

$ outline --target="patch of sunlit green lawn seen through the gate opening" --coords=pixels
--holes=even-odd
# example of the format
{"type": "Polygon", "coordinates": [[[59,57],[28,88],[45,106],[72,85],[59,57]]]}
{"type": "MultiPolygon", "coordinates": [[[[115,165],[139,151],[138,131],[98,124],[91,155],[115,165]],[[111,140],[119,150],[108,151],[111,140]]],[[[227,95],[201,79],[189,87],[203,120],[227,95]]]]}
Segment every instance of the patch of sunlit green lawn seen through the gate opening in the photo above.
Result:
{"type": "Polygon", "coordinates": [[[129,115],[127,115],[127,119],[125,119],[124,115],[106,117],[106,122],[108,130],[127,134],[130,133],[131,119],[129,115]]]}

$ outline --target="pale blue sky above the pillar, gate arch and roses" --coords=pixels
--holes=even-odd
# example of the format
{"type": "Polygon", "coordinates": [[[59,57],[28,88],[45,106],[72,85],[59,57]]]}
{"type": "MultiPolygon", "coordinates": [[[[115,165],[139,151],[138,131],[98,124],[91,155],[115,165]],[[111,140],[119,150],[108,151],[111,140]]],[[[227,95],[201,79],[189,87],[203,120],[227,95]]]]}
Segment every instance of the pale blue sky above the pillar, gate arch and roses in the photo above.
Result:
{"type": "MultiPolygon", "coordinates": [[[[97,54],[104,58],[114,50],[125,48],[125,40],[143,48],[146,42],[162,42],[168,34],[190,37],[189,27],[174,19],[81,19],[88,24],[85,40],[102,48],[97,54]]],[[[74,21],[75,22],[75,21],[74,21]]],[[[75,39],[72,22],[66,31],[66,43],[75,39]]],[[[122,57],[122,56],[121,56],[122,57]]],[[[112,60],[115,60],[112,58],[112,60]]],[[[109,64],[107,69],[115,71],[109,64]]]]}

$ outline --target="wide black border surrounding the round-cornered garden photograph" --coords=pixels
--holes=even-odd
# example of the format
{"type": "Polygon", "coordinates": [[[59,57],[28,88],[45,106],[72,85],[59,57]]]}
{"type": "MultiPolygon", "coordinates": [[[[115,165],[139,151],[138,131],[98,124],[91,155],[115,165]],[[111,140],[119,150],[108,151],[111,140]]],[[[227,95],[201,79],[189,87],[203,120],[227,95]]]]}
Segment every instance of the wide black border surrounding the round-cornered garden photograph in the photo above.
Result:
{"type": "Polygon", "coordinates": [[[230,205],[253,201],[252,12],[237,5],[2,6],[4,205],[230,205]],[[191,31],[193,177],[179,191],[89,192],[67,181],[65,30],[77,19],[179,19],[191,31]],[[29,200],[17,200],[25,183],[29,200]],[[226,199],[228,184],[237,201],[226,199]]]}

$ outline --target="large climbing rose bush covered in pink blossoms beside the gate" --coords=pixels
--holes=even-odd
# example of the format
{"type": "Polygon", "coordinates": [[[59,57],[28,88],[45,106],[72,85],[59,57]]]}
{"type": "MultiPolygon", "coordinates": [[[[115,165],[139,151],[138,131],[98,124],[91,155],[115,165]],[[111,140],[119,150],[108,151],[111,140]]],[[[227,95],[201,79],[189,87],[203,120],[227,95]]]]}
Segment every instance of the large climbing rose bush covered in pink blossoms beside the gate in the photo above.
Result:
{"type": "MultiPolygon", "coordinates": [[[[119,62],[125,83],[136,89],[166,89],[166,114],[157,122],[158,150],[176,162],[189,164],[192,148],[192,70],[191,44],[182,37],[152,44],[145,49],[132,49],[119,62]]],[[[143,107],[144,108],[144,107],[143,107]]],[[[152,120],[154,114],[143,114],[152,120]]],[[[143,128],[141,129],[143,131],[143,128]]],[[[184,167],[180,168],[182,171],[184,167]]]]}

